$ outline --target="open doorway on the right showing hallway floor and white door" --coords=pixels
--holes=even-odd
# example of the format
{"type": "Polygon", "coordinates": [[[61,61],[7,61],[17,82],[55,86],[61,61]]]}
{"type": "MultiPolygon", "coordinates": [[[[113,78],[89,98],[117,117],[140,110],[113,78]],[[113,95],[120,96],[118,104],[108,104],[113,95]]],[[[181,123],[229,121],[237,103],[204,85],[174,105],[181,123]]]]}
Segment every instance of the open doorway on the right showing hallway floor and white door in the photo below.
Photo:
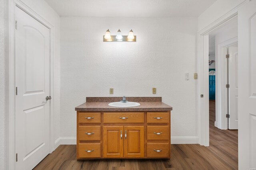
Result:
{"type": "Polygon", "coordinates": [[[238,168],[238,18],[209,33],[209,149],[238,168]],[[236,130],[230,130],[236,129],[236,130]]]}

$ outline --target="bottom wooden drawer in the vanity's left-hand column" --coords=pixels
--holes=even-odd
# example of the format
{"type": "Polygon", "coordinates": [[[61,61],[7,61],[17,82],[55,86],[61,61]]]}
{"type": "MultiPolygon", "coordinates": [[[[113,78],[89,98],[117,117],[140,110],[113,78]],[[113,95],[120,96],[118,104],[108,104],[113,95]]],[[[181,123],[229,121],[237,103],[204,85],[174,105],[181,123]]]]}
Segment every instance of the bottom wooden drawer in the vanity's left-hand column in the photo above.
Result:
{"type": "Polygon", "coordinates": [[[100,158],[100,153],[100,143],[78,144],[78,158],[100,158]]]}

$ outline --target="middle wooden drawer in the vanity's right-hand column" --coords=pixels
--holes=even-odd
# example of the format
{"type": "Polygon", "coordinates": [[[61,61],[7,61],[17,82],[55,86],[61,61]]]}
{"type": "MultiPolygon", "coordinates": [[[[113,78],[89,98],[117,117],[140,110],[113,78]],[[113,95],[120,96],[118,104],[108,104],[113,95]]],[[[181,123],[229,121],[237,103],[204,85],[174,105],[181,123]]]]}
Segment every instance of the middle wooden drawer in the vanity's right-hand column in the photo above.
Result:
{"type": "Polygon", "coordinates": [[[148,140],[169,140],[169,126],[147,126],[148,140]]]}

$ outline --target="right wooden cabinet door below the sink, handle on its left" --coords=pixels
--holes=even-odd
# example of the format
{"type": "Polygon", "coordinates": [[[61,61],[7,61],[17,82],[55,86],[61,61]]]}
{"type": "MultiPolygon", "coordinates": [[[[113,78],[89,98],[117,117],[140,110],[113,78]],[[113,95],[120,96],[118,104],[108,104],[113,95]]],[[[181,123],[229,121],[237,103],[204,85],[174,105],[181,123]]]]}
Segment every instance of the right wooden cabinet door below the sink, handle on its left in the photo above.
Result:
{"type": "Polygon", "coordinates": [[[125,158],[144,157],[144,126],[124,126],[123,137],[125,158]]]}

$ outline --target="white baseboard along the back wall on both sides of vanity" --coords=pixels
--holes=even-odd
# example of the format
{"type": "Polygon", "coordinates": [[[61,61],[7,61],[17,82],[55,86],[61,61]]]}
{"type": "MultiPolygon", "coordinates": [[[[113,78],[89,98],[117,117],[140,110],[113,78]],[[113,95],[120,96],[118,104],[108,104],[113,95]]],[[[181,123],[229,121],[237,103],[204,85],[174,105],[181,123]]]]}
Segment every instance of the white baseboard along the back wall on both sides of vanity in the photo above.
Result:
{"type": "MultiPolygon", "coordinates": [[[[171,137],[171,144],[198,144],[198,137],[171,137]]],[[[55,149],[60,145],[76,145],[76,137],[59,137],[55,141],[55,149]]]]}

